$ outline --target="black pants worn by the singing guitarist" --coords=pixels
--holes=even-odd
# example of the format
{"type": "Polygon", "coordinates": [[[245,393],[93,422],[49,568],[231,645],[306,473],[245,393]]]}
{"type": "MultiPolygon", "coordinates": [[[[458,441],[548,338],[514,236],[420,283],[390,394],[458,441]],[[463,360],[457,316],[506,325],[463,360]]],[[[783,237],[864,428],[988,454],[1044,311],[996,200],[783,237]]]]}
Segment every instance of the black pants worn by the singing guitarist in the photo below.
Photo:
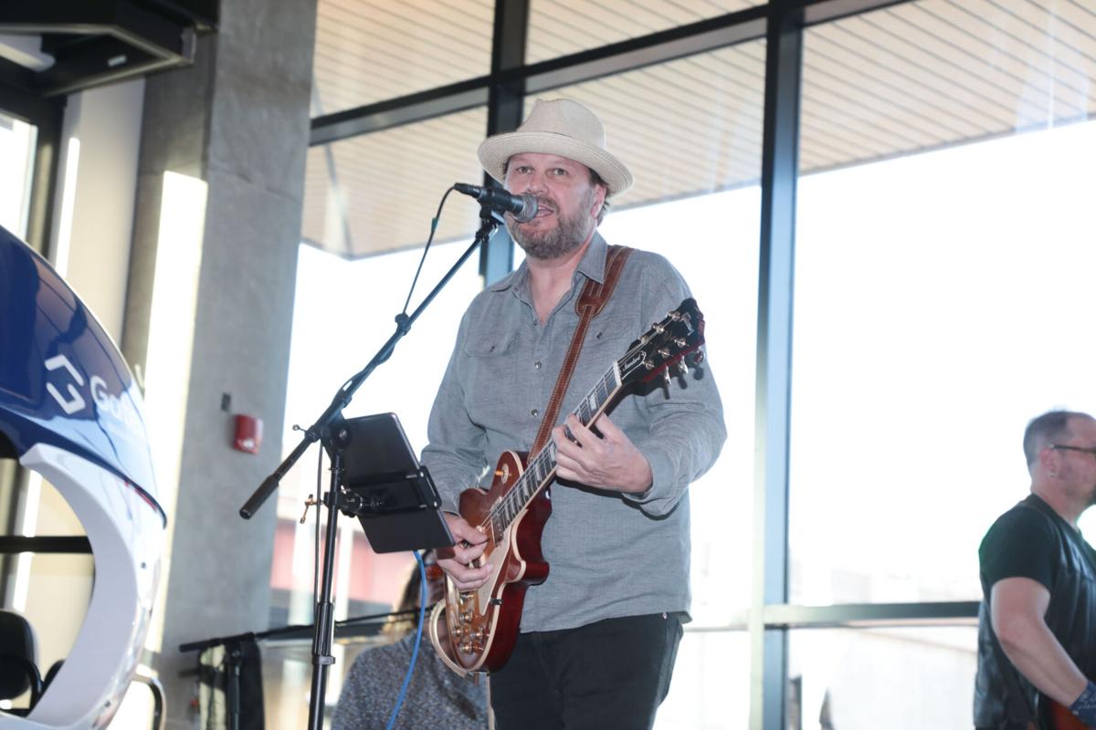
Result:
{"type": "Polygon", "coordinates": [[[649,730],[670,691],[681,637],[676,614],[522,634],[491,673],[499,730],[649,730]]]}

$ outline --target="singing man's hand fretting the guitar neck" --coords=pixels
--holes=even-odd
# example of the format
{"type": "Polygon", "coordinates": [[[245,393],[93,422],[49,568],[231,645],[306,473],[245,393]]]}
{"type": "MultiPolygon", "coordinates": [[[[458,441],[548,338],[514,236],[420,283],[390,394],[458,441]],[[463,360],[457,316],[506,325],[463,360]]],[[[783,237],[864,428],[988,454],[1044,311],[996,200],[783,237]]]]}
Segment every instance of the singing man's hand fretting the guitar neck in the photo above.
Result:
{"type": "Polygon", "coordinates": [[[567,417],[566,426],[552,429],[556,474],[598,489],[647,491],[654,478],[647,457],[608,416],[598,416],[593,425],[601,436],[583,426],[574,414],[567,417]]]}

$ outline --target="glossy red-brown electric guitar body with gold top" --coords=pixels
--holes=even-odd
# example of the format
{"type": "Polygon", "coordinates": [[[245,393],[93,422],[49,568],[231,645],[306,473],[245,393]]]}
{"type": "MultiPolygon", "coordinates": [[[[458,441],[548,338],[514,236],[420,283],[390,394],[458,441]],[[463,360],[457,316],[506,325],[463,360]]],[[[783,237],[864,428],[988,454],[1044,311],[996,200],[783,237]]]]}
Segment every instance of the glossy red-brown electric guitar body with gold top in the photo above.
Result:
{"type": "MultiPolygon", "coordinates": [[[[499,459],[491,489],[466,489],[460,495],[460,517],[470,525],[488,525],[491,508],[525,471],[522,454],[507,451],[499,459]]],[[[460,592],[446,580],[445,617],[449,633],[446,654],[465,671],[494,671],[506,663],[517,641],[526,589],[543,583],[548,564],[540,552],[540,535],[551,514],[548,489],[529,501],[509,528],[494,538],[473,564],[492,566],[487,582],[475,591],[460,592]]]]}

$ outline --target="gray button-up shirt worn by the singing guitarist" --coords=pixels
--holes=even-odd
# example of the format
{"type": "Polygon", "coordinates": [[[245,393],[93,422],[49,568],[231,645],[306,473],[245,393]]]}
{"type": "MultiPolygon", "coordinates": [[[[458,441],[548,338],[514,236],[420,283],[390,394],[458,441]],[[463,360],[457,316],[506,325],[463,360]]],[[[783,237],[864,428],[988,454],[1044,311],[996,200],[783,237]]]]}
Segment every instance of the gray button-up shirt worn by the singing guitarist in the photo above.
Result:
{"type": "MultiPolygon", "coordinates": [[[[456,511],[463,489],[489,487],[503,451],[532,445],[579,322],[575,300],[586,279],[604,279],[607,248],[595,234],[571,290],[544,324],[525,264],[468,308],[422,454],[445,509],[456,511]]],[[[688,297],[665,258],[633,252],[612,300],[591,323],[557,422],[632,340],[688,297]]],[[[647,457],[653,483],[641,495],[553,483],[552,513],[541,538],[550,570],[526,593],[522,631],[688,611],[687,487],[716,461],[727,437],[711,371],[705,362],[665,386],[627,387],[608,415],[647,457]]]]}

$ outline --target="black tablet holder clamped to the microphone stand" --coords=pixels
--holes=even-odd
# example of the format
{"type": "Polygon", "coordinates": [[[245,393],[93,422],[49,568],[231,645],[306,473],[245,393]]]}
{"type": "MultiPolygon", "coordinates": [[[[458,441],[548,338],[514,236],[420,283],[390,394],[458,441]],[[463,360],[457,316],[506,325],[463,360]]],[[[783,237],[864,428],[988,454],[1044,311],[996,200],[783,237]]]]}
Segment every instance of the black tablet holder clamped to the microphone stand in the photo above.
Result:
{"type": "Polygon", "coordinates": [[[355,514],[375,553],[453,545],[434,480],[393,413],[343,421],[344,511],[355,514]]]}

